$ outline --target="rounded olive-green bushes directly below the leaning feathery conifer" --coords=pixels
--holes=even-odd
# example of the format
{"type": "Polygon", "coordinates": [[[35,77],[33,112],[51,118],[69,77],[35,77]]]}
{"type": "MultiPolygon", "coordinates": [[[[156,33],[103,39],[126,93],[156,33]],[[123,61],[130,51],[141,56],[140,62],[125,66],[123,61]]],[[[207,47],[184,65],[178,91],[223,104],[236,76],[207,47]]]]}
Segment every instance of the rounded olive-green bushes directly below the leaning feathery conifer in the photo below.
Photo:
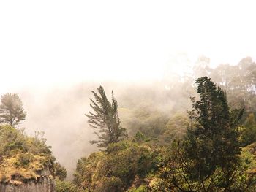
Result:
{"type": "Polygon", "coordinates": [[[108,153],[92,153],[78,161],[74,183],[89,191],[125,191],[146,183],[162,161],[147,145],[121,141],[108,146],[108,153]]]}

